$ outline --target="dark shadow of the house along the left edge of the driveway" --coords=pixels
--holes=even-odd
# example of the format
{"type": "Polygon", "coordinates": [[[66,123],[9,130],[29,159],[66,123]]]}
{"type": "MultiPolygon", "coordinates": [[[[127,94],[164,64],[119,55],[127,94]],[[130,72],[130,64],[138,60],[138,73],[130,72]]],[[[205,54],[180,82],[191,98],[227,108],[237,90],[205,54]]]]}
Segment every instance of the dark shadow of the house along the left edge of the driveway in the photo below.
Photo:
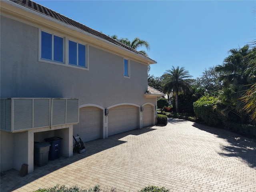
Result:
{"type": "MultiPolygon", "coordinates": [[[[48,164],[45,166],[34,166],[34,172],[27,174],[24,177],[18,176],[18,170],[8,170],[4,173],[1,173],[1,182],[0,182],[0,191],[9,192],[15,191],[18,188],[37,180],[47,174],[50,174],[64,166],[68,166],[74,162],[77,162],[81,159],[87,158],[91,155],[94,155],[98,152],[108,150],[109,148],[118,146],[120,144],[126,143],[126,141],[120,140],[128,135],[140,135],[146,132],[155,130],[152,126],[144,127],[142,129],[135,129],[128,132],[116,134],[109,136],[106,139],[98,139],[85,143],[86,152],[82,154],[74,153],[72,157],[63,157],[61,156],[58,159],[48,161],[48,164]]],[[[60,146],[61,147],[61,146],[60,146]]],[[[81,168],[83,165],[81,165],[81,168]]]]}

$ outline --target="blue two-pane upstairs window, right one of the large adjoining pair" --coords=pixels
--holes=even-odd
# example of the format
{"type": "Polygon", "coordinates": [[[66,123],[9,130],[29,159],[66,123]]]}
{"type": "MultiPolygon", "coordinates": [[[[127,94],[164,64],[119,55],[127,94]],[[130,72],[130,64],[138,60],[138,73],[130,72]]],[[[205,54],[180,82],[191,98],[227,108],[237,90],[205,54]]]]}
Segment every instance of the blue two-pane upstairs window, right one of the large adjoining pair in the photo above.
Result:
{"type": "Polygon", "coordinates": [[[74,41],[68,41],[68,63],[86,68],[86,46],[74,41]]]}

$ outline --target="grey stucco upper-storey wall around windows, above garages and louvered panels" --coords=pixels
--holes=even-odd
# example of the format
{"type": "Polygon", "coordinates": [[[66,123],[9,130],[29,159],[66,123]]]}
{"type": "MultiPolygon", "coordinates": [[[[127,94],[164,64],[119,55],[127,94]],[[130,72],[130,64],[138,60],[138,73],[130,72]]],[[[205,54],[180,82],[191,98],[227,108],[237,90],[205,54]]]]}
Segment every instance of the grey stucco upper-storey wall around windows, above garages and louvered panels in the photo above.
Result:
{"type": "Polygon", "coordinates": [[[103,107],[154,102],[144,98],[146,65],[130,60],[130,78],[124,78],[122,56],[90,45],[89,70],[39,62],[38,28],[1,16],[1,34],[2,98],[79,98],[80,105],[103,107]]]}

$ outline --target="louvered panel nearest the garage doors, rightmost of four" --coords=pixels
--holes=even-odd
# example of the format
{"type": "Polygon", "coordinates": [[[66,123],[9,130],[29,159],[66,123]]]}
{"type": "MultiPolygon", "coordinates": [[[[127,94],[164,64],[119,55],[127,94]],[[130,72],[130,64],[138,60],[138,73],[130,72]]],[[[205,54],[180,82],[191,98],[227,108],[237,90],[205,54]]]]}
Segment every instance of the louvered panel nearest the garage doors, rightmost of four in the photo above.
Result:
{"type": "Polygon", "coordinates": [[[67,99],[66,123],[78,123],[78,99],[67,99]]]}

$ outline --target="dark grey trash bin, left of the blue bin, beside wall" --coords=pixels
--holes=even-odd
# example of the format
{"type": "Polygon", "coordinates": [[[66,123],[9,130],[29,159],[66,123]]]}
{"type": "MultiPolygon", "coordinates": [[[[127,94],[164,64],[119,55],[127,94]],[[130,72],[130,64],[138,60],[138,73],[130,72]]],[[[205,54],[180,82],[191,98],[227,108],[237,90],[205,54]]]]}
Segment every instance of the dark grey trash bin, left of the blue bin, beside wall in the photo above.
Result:
{"type": "Polygon", "coordinates": [[[48,154],[51,144],[47,142],[34,142],[34,163],[44,166],[48,163],[48,154]]]}

